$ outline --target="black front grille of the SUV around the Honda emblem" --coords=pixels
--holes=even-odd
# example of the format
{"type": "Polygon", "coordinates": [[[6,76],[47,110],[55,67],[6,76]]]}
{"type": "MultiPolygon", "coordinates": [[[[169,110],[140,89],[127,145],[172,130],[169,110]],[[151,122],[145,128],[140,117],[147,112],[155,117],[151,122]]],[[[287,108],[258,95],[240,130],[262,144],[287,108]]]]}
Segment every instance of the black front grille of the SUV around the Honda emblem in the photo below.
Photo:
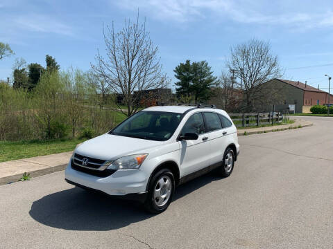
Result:
{"type": "Polygon", "coordinates": [[[79,172],[84,172],[86,174],[100,177],[110,176],[117,171],[115,169],[103,169],[103,167],[101,168],[103,170],[99,170],[99,168],[103,166],[105,162],[105,160],[90,158],[88,156],[75,153],[74,158],[71,160],[71,168],[79,172]],[[84,159],[88,160],[87,165],[83,165],[84,159]]]}

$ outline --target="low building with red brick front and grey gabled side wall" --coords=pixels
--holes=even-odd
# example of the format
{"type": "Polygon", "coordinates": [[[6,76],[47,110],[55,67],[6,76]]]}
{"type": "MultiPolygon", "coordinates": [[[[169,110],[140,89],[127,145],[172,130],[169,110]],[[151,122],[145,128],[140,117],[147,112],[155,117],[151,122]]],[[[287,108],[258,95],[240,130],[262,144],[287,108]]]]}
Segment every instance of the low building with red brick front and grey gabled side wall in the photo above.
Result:
{"type": "MultiPolygon", "coordinates": [[[[282,101],[276,109],[283,111],[290,108],[295,113],[309,113],[310,108],[316,104],[328,104],[328,93],[305,83],[292,80],[273,79],[265,83],[272,89],[278,89],[282,101]]],[[[330,95],[330,104],[333,104],[333,95],[330,95]]]]}

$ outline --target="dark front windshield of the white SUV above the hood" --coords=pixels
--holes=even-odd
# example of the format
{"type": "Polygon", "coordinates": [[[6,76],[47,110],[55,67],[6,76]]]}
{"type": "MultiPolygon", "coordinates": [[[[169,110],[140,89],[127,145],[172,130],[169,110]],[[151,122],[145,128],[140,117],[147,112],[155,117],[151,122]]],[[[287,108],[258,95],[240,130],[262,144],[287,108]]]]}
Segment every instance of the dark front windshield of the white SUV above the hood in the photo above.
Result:
{"type": "Polygon", "coordinates": [[[171,138],[183,116],[182,113],[139,111],[110,131],[110,134],[165,141],[171,138]]]}

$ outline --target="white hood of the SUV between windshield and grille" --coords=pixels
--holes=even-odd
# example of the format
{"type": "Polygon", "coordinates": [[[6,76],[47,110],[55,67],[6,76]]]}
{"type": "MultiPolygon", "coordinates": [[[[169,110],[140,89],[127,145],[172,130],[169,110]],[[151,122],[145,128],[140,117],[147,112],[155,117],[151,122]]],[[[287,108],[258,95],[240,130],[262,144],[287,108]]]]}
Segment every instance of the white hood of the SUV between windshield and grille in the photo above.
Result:
{"type": "Polygon", "coordinates": [[[116,160],[121,156],[149,153],[152,148],[163,145],[164,142],[146,140],[140,138],[129,138],[104,134],[83,142],[76,148],[76,153],[102,160],[116,160]]]}

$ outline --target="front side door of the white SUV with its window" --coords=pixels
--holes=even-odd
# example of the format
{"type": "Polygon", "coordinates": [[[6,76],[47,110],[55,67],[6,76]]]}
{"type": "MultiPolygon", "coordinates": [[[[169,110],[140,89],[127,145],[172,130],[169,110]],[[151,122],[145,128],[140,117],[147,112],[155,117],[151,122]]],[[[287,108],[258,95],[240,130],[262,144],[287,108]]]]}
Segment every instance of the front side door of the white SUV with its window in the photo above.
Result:
{"type": "Polygon", "coordinates": [[[202,113],[194,113],[185,122],[180,134],[197,133],[197,140],[182,140],[180,143],[180,167],[184,176],[210,165],[208,151],[210,145],[205,135],[205,123],[202,113]]]}

